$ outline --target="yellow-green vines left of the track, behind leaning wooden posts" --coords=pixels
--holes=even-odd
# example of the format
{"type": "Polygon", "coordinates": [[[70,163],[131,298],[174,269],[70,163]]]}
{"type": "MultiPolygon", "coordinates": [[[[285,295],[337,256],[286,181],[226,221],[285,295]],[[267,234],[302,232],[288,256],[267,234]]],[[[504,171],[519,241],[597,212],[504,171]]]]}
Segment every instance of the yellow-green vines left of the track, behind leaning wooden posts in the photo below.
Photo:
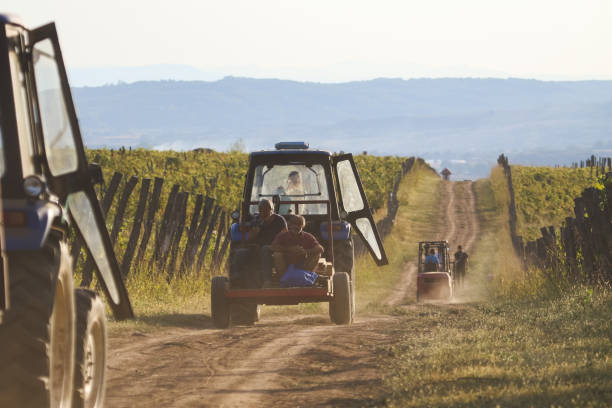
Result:
{"type": "MultiPolygon", "coordinates": [[[[137,277],[135,279],[130,279],[129,282],[138,282],[139,279],[150,279],[151,276],[156,276],[153,271],[149,270],[149,266],[153,256],[154,243],[157,238],[156,235],[159,231],[160,222],[173,185],[178,185],[180,187],[179,191],[189,193],[186,211],[186,227],[190,225],[192,220],[195,196],[197,194],[214,198],[215,203],[225,210],[225,220],[227,221],[228,213],[237,208],[242,199],[244,177],[248,166],[248,154],[243,153],[241,150],[241,141],[237,141],[232,145],[230,151],[226,153],[219,153],[209,149],[198,149],[197,151],[189,152],[155,151],[146,149],[93,149],[87,152],[90,161],[97,162],[101,165],[104,179],[107,183],[100,189],[100,196],[104,195],[114,172],[120,172],[124,175],[115,196],[114,204],[111,206],[106,217],[106,226],[109,231],[112,229],[117,211],[117,203],[124,191],[127,180],[131,176],[139,178],[139,183],[136,185],[136,188],[129,198],[124,216],[125,221],[115,243],[115,252],[119,260],[123,258],[132,231],[142,178],[153,179],[155,177],[161,177],[164,179],[159,207],[155,216],[155,225],[153,226],[152,236],[149,240],[145,257],[139,265],[133,264],[131,273],[136,274],[137,277]]],[[[384,207],[388,193],[391,191],[393,183],[401,171],[404,160],[404,158],[399,157],[376,157],[365,155],[356,157],[357,167],[372,208],[379,209],[384,207]]],[[[153,183],[151,183],[149,195],[152,190],[153,183]]],[[[149,204],[150,203],[147,203],[147,206],[149,204]]],[[[228,225],[228,223],[225,224],[225,230],[219,228],[214,230],[205,257],[205,269],[210,265],[213,248],[215,247],[217,239],[224,236],[220,236],[219,234],[225,234],[228,225]]],[[[181,257],[184,253],[187,241],[185,235],[186,234],[183,233],[178,246],[177,265],[181,261],[181,257]]],[[[80,273],[83,260],[81,259],[81,261],[76,264],[77,272],[80,273]]],[[[176,271],[169,272],[176,273],[176,271]]],[[[208,270],[193,272],[201,274],[200,279],[204,281],[208,281],[210,278],[210,271],[208,270]]],[[[191,276],[186,276],[185,278],[189,280],[191,276]]],[[[165,275],[161,279],[165,280],[165,275]]],[[[173,279],[168,288],[180,287],[180,281],[181,279],[173,279]]],[[[162,283],[161,287],[163,286],[164,284],[162,283]]],[[[138,286],[131,287],[130,292],[137,293],[137,297],[144,293],[138,286]]],[[[175,292],[170,290],[168,293],[170,293],[170,297],[172,297],[172,293],[175,292]]]]}

